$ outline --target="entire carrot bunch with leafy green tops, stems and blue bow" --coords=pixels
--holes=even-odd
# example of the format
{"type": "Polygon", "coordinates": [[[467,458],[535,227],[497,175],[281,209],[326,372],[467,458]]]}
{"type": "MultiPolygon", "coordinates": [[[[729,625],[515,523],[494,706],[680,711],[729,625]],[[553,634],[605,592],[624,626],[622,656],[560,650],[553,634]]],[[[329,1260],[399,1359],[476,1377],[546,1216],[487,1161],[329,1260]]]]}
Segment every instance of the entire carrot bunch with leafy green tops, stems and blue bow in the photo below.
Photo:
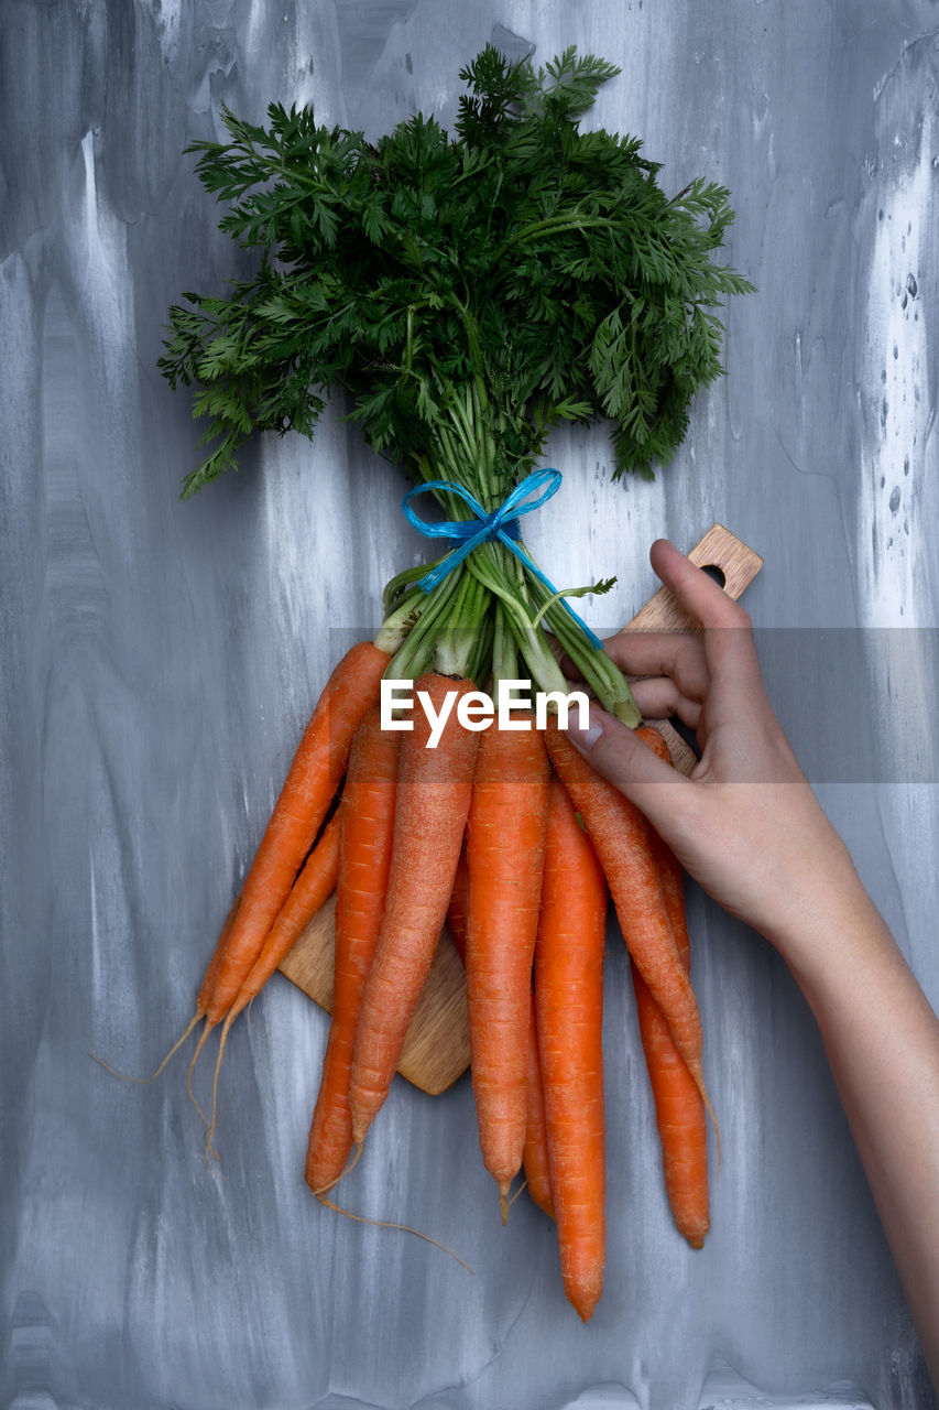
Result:
{"type": "Polygon", "coordinates": [[[207,1151],[231,1024],[336,893],[334,1015],[306,1162],[329,1203],[388,1094],[448,915],[486,1169],[505,1218],[524,1166],[585,1318],[603,1269],[608,890],[671,1207],[695,1246],[708,1228],[681,873],[551,721],[477,733],[451,711],[427,749],[426,721],[382,732],[375,705],[385,675],[437,708],[444,692],[519,675],[567,694],[560,649],[603,709],[642,729],[627,680],[568,601],[615,580],[556,591],[522,520],[560,486],[557,470],[536,468],[557,426],[608,422],[616,479],[670,460],[691,399],[722,372],[715,310],[751,285],[715,262],[733,219],[722,186],[667,196],[637,138],[581,131],[618,72],[574,48],[534,69],[486,45],[461,70],[453,133],[417,113],[375,142],[317,124],[312,107],[272,104],[266,128],[223,109],[227,140],[188,151],[227,207],[238,268],[245,251],[257,268],[226,296],[173,305],[159,360],[203,420],[183,496],[255,433],[312,437],[340,391],[412,482],[409,522],[450,541],[388,582],[375,640],[336,667],[226,921],[190,1025],[203,1024],[196,1058],[221,1029],[207,1151]],[[413,508],[424,495],[443,520],[413,508]]]}

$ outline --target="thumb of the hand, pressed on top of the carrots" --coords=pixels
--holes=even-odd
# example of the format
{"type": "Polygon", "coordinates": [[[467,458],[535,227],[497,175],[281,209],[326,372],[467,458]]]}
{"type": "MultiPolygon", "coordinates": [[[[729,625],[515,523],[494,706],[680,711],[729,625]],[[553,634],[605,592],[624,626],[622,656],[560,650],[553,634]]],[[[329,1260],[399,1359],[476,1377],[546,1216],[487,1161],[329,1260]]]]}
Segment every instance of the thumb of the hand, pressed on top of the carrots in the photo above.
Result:
{"type": "Polygon", "coordinates": [[[615,715],[601,709],[596,701],[591,701],[588,728],[578,729],[571,722],[567,737],[591,768],[634,802],[663,838],[675,835],[688,802],[685,790],[692,787],[684,774],[658,759],[649,744],[615,715]]]}

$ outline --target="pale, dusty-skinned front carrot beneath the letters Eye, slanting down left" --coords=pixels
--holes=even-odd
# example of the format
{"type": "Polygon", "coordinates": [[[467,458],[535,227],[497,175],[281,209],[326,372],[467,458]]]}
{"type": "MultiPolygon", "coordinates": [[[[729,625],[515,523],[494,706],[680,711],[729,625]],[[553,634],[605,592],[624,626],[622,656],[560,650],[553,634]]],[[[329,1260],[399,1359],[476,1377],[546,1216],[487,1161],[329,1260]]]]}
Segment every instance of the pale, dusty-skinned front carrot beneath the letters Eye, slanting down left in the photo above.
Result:
{"type": "MultiPolygon", "coordinates": [[[[448,691],[475,691],[472,681],[423,675],[436,711],[448,691]]],[[[361,1146],[378,1114],[405,1042],[407,1025],[434,957],[453,894],[470,811],[472,766],[479,736],[457,721],[455,702],[436,749],[430,726],[415,712],[398,764],[395,832],[385,912],[355,1031],[350,1084],[352,1141],[361,1146]]]]}

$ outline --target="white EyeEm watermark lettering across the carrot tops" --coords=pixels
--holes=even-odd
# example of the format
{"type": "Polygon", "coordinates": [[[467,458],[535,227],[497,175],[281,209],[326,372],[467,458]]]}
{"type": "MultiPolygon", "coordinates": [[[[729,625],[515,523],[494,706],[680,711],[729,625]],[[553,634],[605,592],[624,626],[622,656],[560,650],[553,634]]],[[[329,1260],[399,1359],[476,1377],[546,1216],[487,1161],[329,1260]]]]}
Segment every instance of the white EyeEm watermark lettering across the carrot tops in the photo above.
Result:
{"type": "Polygon", "coordinates": [[[464,729],[482,730],[492,725],[496,729],[532,729],[532,709],[534,708],[534,729],[547,728],[548,708],[557,711],[561,729],[567,729],[571,708],[577,706],[577,728],[587,729],[589,725],[589,701],[584,691],[536,691],[532,701],[532,681],[499,681],[496,698],[485,691],[447,691],[440,702],[440,709],[427,691],[413,694],[413,681],[389,681],[381,684],[381,726],[382,729],[413,729],[413,719],[400,718],[413,715],[415,708],[423,709],[430,725],[427,749],[436,749],[444,726],[453,713],[457,701],[457,719],[464,729]],[[515,715],[527,713],[527,719],[516,719],[515,715]]]}

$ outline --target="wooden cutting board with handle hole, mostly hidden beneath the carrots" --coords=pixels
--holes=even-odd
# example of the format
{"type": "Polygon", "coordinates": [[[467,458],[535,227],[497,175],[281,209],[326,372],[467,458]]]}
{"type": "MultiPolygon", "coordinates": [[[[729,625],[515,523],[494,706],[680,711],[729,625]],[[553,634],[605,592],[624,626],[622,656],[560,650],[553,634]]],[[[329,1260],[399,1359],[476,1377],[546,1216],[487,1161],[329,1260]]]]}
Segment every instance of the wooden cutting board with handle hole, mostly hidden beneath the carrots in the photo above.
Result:
{"type": "MultiPolygon", "coordinates": [[[[722,525],[713,525],[688,554],[699,568],[708,568],[725,592],[739,598],[763,567],[763,558],[747,548],[722,525]]],[[[678,606],[667,588],[639,609],[625,632],[698,632],[701,627],[678,606]]],[[[696,756],[668,721],[651,721],[668,742],[675,768],[688,774],[696,756]]],[[[306,931],[281,964],[305,994],[333,1012],[333,950],[336,898],[313,916],[306,931]]],[[[467,984],[450,932],[444,926],[424,991],[417,1001],[398,1070],[422,1091],[437,1096],[470,1066],[467,1026],[467,984]]]]}

